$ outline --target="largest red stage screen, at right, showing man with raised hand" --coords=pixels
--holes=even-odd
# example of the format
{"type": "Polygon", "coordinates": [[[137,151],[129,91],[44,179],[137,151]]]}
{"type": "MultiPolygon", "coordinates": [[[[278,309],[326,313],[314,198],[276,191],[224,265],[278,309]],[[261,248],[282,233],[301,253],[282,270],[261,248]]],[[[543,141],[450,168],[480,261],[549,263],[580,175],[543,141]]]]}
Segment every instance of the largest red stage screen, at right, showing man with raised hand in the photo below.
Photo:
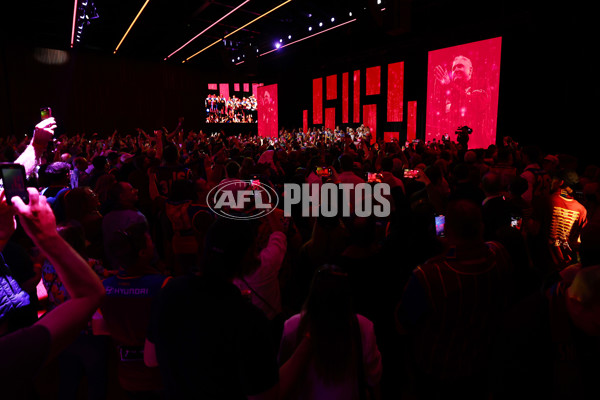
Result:
{"type": "Polygon", "coordinates": [[[502,38],[429,52],[425,140],[440,140],[467,125],[469,148],[496,143],[502,38]]]}

